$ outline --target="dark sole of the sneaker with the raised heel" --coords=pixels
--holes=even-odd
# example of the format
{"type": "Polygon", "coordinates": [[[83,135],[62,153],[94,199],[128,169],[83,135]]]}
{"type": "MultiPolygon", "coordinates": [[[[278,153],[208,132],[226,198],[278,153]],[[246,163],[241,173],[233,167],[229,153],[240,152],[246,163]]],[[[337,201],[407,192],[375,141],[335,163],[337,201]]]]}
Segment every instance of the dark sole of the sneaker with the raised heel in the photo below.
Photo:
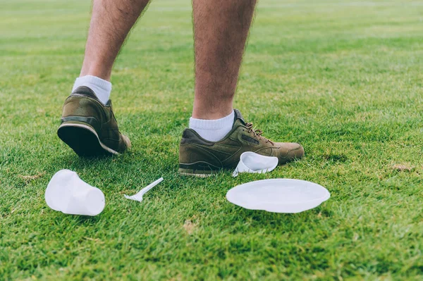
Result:
{"type": "Polygon", "coordinates": [[[117,151],[103,144],[97,132],[89,125],[63,123],[57,130],[59,138],[75,151],[78,156],[119,155],[117,151]]]}

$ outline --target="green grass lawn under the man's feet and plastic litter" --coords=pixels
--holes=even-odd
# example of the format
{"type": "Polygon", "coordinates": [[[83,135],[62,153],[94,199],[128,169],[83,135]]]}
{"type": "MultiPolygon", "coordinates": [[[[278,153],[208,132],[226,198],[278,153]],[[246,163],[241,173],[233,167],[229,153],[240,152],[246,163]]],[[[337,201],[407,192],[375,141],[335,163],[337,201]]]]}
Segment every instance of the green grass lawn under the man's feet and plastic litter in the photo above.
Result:
{"type": "Polygon", "coordinates": [[[0,280],[423,280],[422,4],[260,1],[235,106],[307,155],[265,175],[198,179],[177,172],[193,98],[189,2],[154,1],[116,62],[132,151],[86,160],[56,129],[89,1],[1,1],[0,280]],[[64,168],[104,191],[102,214],[47,207],[64,168]],[[123,198],[161,176],[141,204],[123,198]],[[298,214],[226,201],[235,185],[276,177],[317,182],[331,199],[298,214]]]}

